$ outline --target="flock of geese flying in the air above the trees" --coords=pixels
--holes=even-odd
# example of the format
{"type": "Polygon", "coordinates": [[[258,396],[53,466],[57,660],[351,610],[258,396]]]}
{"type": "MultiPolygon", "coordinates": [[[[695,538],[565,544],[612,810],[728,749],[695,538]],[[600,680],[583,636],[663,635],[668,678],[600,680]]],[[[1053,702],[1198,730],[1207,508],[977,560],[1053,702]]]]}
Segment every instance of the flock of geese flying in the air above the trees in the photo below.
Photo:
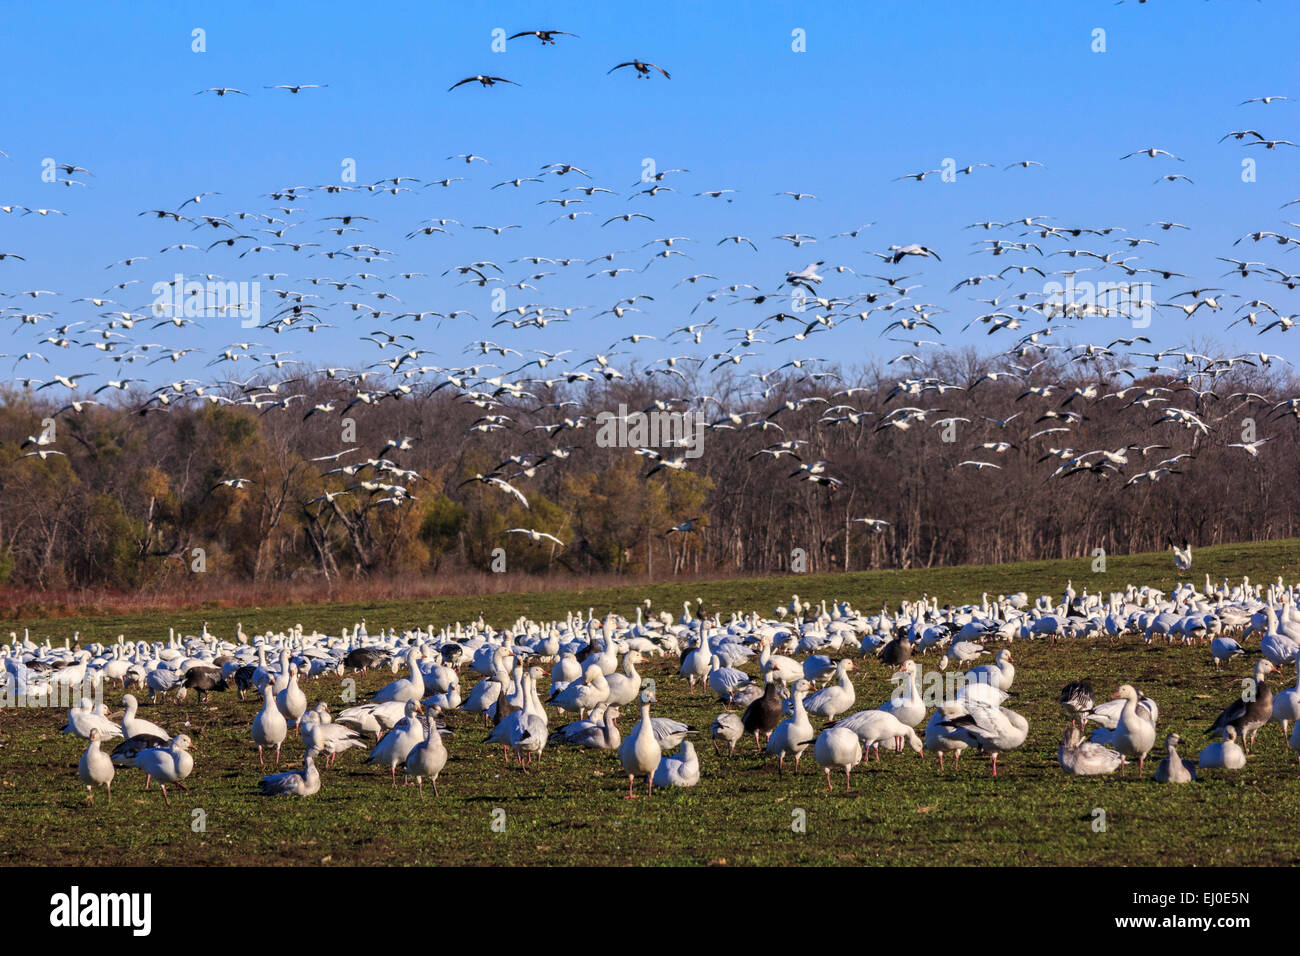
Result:
{"type": "MultiPolygon", "coordinates": [[[[520,30],[508,39],[526,42],[526,38],[556,49],[581,42],[575,34],[556,29],[520,30]],[[556,38],[563,40],[559,46],[556,38]]],[[[621,70],[630,70],[638,78],[670,75],[659,65],[638,59],[621,61],[610,73],[621,70]]],[[[451,88],[474,83],[489,87],[514,81],[485,73],[465,77],[451,88]]],[[[328,83],[280,83],[268,88],[287,91],[289,99],[334,92],[328,83]]],[[[247,96],[230,86],[213,86],[198,94],[222,101],[247,96]]],[[[1275,130],[1288,124],[1288,105],[1290,99],[1282,95],[1247,99],[1238,108],[1249,120],[1240,124],[1242,129],[1223,134],[1218,143],[1212,139],[1209,147],[1235,148],[1248,155],[1286,152],[1294,143],[1275,130]]],[[[1117,170],[1138,163],[1183,164],[1184,157],[1192,156],[1188,148],[1192,146],[1179,143],[1175,153],[1165,146],[1145,144],[1113,161],[1122,163],[1117,170]]],[[[43,203],[25,206],[6,200],[0,212],[13,216],[20,228],[12,234],[14,247],[0,250],[0,284],[6,299],[0,306],[0,325],[35,338],[30,347],[5,355],[12,359],[12,372],[34,394],[58,397],[56,419],[90,414],[94,406],[109,401],[129,405],[142,415],[208,402],[247,407],[259,415],[291,416],[302,428],[317,416],[342,418],[358,405],[374,406],[450,388],[450,394],[482,411],[465,429],[468,440],[503,433],[521,444],[498,470],[472,480],[525,505],[526,493],[514,483],[568,454],[563,446],[538,450],[536,440],[554,440],[590,425],[588,416],[568,411],[577,405],[575,390],[632,376],[664,386],[664,397],[655,403],[662,410],[698,408],[708,412],[710,429],[757,428],[771,434],[774,444],[755,457],[770,455],[772,460],[783,455],[802,460],[800,453],[815,451],[819,436],[829,434],[827,429],[924,432],[961,423],[972,429],[975,454],[954,467],[985,472],[991,479],[1004,467],[1000,462],[1008,451],[1027,447],[1040,464],[1045,463],[1053,479],[1119,476],[1126,486],[1145,486],[1169,475],[1186,473],[1197,457],[1197,441],[1209,436],[1217,423],[1227,420],[1232,425],[1235,412],[1258,414],[1269,423],[1300,420],[1300,397],[1264,395],[1232,385],[1234,375],[1243,369],[1286,363],[1265,347],[1222,354],[1209,354],[1188,343],[1154,347],[1147,334],[1127,329],[1102,334],[1097,341],[1065,341],[1079,328],[1071,324],[1075,320],[1093,320],[1100,326],[1102,320],[1128,317],[1132,308],[1149,308],[1174,320],[1195,316],[1204,323],[1219,317],[1225,330],[1244,323],[1256,336],[1269,337],[1256,341],[1271,343],[1300,323],[1300,313],[1290,312],[1278,298],[1300,286],[1300,273],[1284,258],[1300,246],[1296,233],[1300,225],[1286,219],[1294,215],[1287,209],[1300,199],[1286,202],[1275,222],[1240,237],[1222,237],[1223,255],[1213,263],[1222,274],[1209,281],[1190,277],[1183,271],[1187,267],[1174,268],[1161,259],[1160,246],[1166,237],[1192,229],[1173,219],[1118,225],[1022,209],[967,224],[944,243],[894,235],[894,242],[881,237],[872,243],[874,248],[862,250],[859,246],[875,234],[868,230],[876,224],[845,222],[842,232],[823,235],[803,232],[794,216],[822,200],[802,190],[779,190],[772,195],[790,209],[792,219],[783,220],[768,242],[789,243],[792,250],[820,243],[818,247],[826,252],[806,265],[772,272],[749,265],[748,256],[758,251],[763,237],[685,235],[666,225],[682,212],[682,203],[742,199],[741,190],[732,186],[692,183],[689,169],[642,170],[641,178],[619,189],[612,182],[602,185],[593,173],[568,161],[508,173],[490,172],[491,161],[474,152],[454,153],[446,163],[450,168],[410,170],[417,176],[403,170],[370,182],[269,186],[257,204],[226,203],[213,209],[226,200],[218,191],[200,191],[143,209],[139,216],[165,230],[160,232],[165,245],[157,251],[136,250],[109,263],[107,271],[113,280],[107,289],[83,287],[66,299],[62,291],[21,284],[23,263],[31,259],[22,239],[29,226],[47,228],[64,217],[70,228],[82,228],[75,221],[78,209],[69,207],[64,212],[43,203]],[[433,196],[441,208],[448,204],[447,195],[474,189],[484,196],[517,196],[512,204],[517,221],[467,222],[445,212],[416,221],[403,212],[413,198],[433,196]],[[1023,212],[1035,215],[1019,215],[1023,212]],[[386,238],[382,220],[396,229],[393,235],[406,237],[402,245],[386,238]],[[532,237],[538,248],[498,263],[494,248],[500,246],[494,243],[515,234],[532,237]],[[978,238],[971,242],[971,235],[978,238]],[[940,247],[950,261],[958,252],[958,237],[980,265],[948,289],[949,298],[944,298],[945,291],[933,289],[933,281],[924,281],[919,271],[944,261],[940,247]],[[585,251],[575,251],[581,245],[585,251]],[[1275,254],[1273,261],[1269,252],[1275,254]],[[446,280],[438,291],[441,300],[406,303],[403,297],[411,295],[407,287],[428,295],[420,281],[430,273],[395,264],[404,255],[437,263],[433,272],[446,280]],[[1249,255],[1261,259],[1239,258],[1249,255]],[[707,265],[701,261],[706,256],[707,265]],[[250,278],[264,284],[261,297],[272,307],[246,341],[216,349],[198,343],[196,332],[214,332],[231,311],[248,303],[213,303],[207,291],[186,293],[190,302],[198,299],[202,306],[191,315],[188,308],[178,311],[140,302],[140,289],[134,287],[142,281],[142,287],[148,287],[148,280],[160,273],[170,277],[178,271],[222,281],[226,278],[220,272],[222,265],[238,268],[263,260],[274,261],[274,268],[250,278]],[[142,273],[146,280],[139,278],[142,273]],[[560,273],[571,277],[571,285],[582,285],[586,291],[581,298],[568,293],[562,300],[550,291],[555,282],[563,281],[556,278],[560,273]],[[585,280],[580,281],[580,276],[585,280]],[[1067,300],[1048,289],[1049,282],[1075,280],[1113,280],[1121,300],[1067,300]],[[495,304],[498,294],[500,308],[495,304]],[[684,294],[692,299],[675,298],[684,294]],[[957,295],[965,298],[950,300],[957,295]],[[65,300],[66,307],[57,304],[65,300]],[[485,311],[489,300],[494,302],[490,313],[485,311]],[[671,328],[668,323],[663,328],[630,326],[641,316],[653,320],[656,311],[672,316],[671,328]],[[963,329],[997,334],[1006,347],[970,380],[916,373],[926,350],[949,347],[942,338],[956,326],[945,316],[956,316],[963,329]],[[547,345],[558,342],[545,337],[549,326],[576,321],[586,324],[580,341],[590,349],[589,354],[541,347],[543,339],[547,345]],[[472,356],[469,363],[455,358],[430,360],[430,349],[417,338],[428,324],[438,325],[442,336],[447,334],[446,326],[463,329],[463,354],[472,356]],[[482,329],[484,324],[502,329],[502,341],[491,338],[495,333],[482,329]],[[884,362],[885,368],[900,372],[897,386],[875,408],[861,407],[864,389],[841,381],[836,363],[811,354],[811,345],[829,343],[835,329],[862,324],[879,326],[884,341],[904,343],[898,354],[884,362]],[[315,368],[304,358],[294,358],[303,352],[292,347],[270,349],[265,343],[270,336],[285,336],[286,342],[292,342],[303,337],[315,339],[326,330],[341,330],[342,341],[335,341],[334,347],[346,351],[337,354],[355,355],[359,360],[315,368]],[[601,334],[611,343],[592,347],[593,341],[602,341],[593,336],[601,334]],[[764,346],[783,345],[807,346],[810,354],[774,363],[775,368],[758,367],[764,346]],[[655,356],[656,351],[663,354],[655,356]],[[363,358],[365,354],[370,358],[363,358]],[[82,364],[74,356],[88,356],[91,363],[82,364]],[[144,377],[129,373],[136,363],[147,369],[144,377]],[[55,371],[56,365],[60,371],[55,371]],[[230,372],[240,365],[248,368],[244,376],[230,372]],[[49,371],[43,373],[42,368],[49,371]],[[744,388],[727,393],[719,389],[719,394],[729,395],[719,398],[698,381],[706,372],[738,376],[744,388]],[[1066,381],[1067,375],[1092,381],[1066,381]],[[1034,421],[1024,434],[1006,431],[1022,412],[971,420],[931,403],[931,399],[941,402],[952,392],[974,394],[985,382],[1000,380],[1023,388],[1017,399],[1024,403],[1023,420],[1017,428],[1034,421]],[[300,388],[304,382],[325,381],[342,389],[343,397],[320,401],[300,388]],[[793,392],[781,394],[797,398],[781,401],[777,393],[785,386],[793,392]],[[673,390],[681,394],[672,394],[673,390]],[[892,403],[894,398],[901,401],[892,403]],[[731,407],[733,403],[753,403],[760,411],[731,407]],[[1089,447],[1079,436],[1088,410],[1105,403],[1131,416],[1134,437],[1121,447],[1089,447]],[[802,424],[792,414],[809,408],[818,415],[805,416],[802,424]],[[786,429],[789,433],[783,434],[786,429]],[[1190,445],[1174,449],[1170,444],[1174,437],[1186,437],[1190,445]],[[1162,457],[1157,451],[1170,454],[1162,457]],[[523,471],[508,467],[512,463],[523,463],[523,471]]],[[[56,183],[82,187],[72,190],[72,195],[91,187],[84,177],[94,174],[78,163],[62,163],[57,172],[56,183]]],[[[910,183],[932,181],[941,172],[927,169],[893,177],[905,183],[894,189],[928,187],[910,183]]],[[[1035,159],[971,161],[957,172],[962,174],[958,181],[993,174],[1050,174],[1046,164],[1035,159]],[[993,166],[1002,169],[984,172],[993,166]]],[[[1166,181],[1195,189],[1188,177],[1178,173],[1162,174],[1152,189],[1161,189],[1166,181]]],[[[1167,195],[1170,203],[1180,202],[1176,191],[1167,195]]],[[[473,208],[476,200],[465,194],[464,202],[469,203],[465,208],[473,208]]],[[[1173,333],[1174,338],[1182,336],[1182,330],[1173,333]]],[[[828,345],[823,355],[836,351],[828,345]]],[[[1268,454],[1271,437],[1223,441],[1256,458],[1268,454]]],[[[402,507],[416,497],[412,485],[421,479],[416,471],[402,467],[403,447],[410,444],[385,447],[374,458],[347,466],[338,463],[347,449],[316,459],[322,462],[321,481],[347,470],[348,477],[356,479],[348,494],[368,506],[402,507]]],[[[23,442],[21,457],[46,462],[64,454],[57,438],[36,431],[23,442]]],[[[646,459],[646,477],[692,466],[690,458],[668,447],[641,447],[636,454],[646,459]]],[[[833,492],[844,483],[835,471],[835,462],[805,462],[789,477],[833,492]]],[[[247,483],[248,479],[231,475],[218,485],[238,490],[247,483]]],[[[322,509],[333,506],[338,494],[339,490],[322,488],[313,503],[322,509]]],[[[879,522],[878,531],[888,524],[884,519],[862,520],[879,522]]],[[[542,528],[511,531],[538,544],[563,545],[542,528]]]]}

